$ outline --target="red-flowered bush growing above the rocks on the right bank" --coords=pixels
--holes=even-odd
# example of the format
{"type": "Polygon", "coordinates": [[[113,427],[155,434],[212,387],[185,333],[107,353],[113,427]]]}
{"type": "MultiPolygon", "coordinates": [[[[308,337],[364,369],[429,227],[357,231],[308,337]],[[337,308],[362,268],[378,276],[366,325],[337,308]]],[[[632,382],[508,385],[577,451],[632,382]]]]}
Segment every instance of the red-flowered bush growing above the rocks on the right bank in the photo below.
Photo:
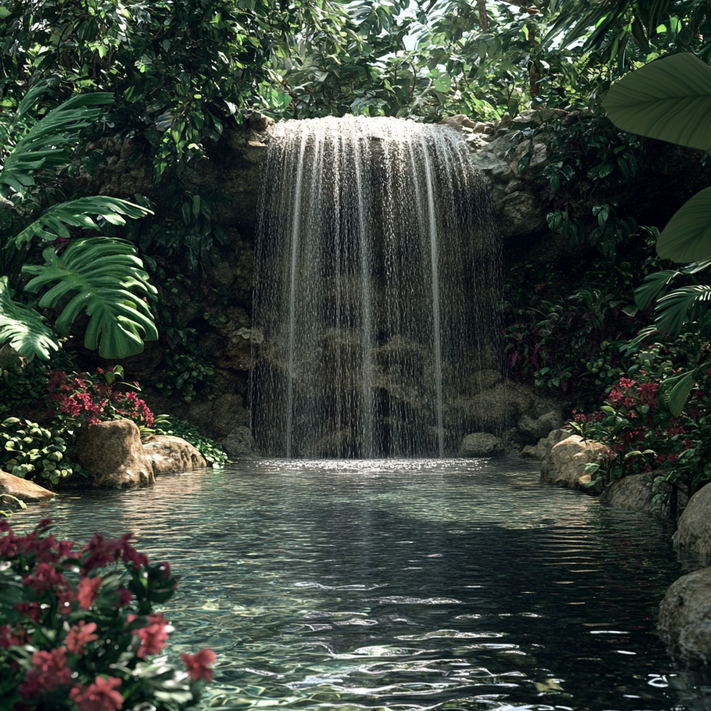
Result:
{"type": "MultiPolygon", "coordinates": [[[[691,389],[679,415],[670,409],[678,368],[668,350],[643,351],[627,377],[611,387],[605,404],[590,415],[574,413],[570,424],[587,439],[606,444],[606,454],[589,464],[595,481],[611,483],[629,474],[660,470],[665,481],[688,496],[711,480],[711,369],[691,389]]],[[[660,494],[660,497],[662,494],[660,494]]]]}

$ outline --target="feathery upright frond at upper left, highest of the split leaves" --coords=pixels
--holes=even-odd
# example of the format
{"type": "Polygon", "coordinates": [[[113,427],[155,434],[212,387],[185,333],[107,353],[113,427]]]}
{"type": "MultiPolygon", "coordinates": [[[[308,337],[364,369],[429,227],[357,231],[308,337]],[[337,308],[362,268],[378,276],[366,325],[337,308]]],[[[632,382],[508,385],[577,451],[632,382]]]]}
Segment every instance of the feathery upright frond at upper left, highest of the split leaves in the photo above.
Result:
{"type": "Polygon", "coordinates": [[[100,109],[90,107],[114,100],[113,95],[106,92],[80,94],[35,122],[28,114],[43,90],[44,87],[31,90],[21,102],[16,124],[19,133],[12,138],[15,144],[0,169],[0,184],[9,185],[18,193],[35,184],[34,171],[68,163],[80,129],[95,122],[100,115],[100,109]]]}

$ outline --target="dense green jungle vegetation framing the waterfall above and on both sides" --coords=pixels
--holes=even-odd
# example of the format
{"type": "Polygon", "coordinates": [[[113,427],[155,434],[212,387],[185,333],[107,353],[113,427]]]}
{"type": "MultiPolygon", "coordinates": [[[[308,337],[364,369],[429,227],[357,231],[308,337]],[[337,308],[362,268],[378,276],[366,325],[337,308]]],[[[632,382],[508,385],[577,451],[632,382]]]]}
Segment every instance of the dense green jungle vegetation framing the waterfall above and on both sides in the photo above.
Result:
{"type": "Polygon", "coordinates": [[[58,483],[77,469],[77,428],[117,412],[155,427],[106,367],[144,341],[163,348],[149,385],[213,397],[200,334],[175,314],[221,318],[205,265],[225,243],[211,220],[223,196],[190,178],[252,112],[438,122],[554,108],[575,120],[548,127],[554,159],[530,180],[572,251],[507,262],[509,376],[570,402],[574,426],[609,446],[600,476],[711,479],[706,263],[661,260],[665,224],[638,223],[605,188],[650,150],[606,117],[607,92],[680,53],[707,62],[711,1],[0,0],[0,345],[24,357],[3,352],[0,412],[38,419],[6,421],[0,464],[58,483]],[[178,185],[169,210],[140,191],[82,192],[109,139],[131,141],[128,164],[150,161],[154,186],[178,185]],[[194,303],[181,280],[202,284],[194,303]]]}

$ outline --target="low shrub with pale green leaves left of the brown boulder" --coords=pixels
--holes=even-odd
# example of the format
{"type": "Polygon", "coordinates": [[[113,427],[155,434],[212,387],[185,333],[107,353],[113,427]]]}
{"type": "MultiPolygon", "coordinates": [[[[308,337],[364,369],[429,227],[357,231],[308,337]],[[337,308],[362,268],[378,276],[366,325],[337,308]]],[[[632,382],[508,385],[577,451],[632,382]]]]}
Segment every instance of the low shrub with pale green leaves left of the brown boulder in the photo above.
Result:
{"type": "Polygon", "coordinates": [[[0,424],[0,464],[14,476],[45,486],[75,473],[86,476],[69,459],[68,439],[64,427],[47,429],[28,419],[8,417],[0,424]]]}

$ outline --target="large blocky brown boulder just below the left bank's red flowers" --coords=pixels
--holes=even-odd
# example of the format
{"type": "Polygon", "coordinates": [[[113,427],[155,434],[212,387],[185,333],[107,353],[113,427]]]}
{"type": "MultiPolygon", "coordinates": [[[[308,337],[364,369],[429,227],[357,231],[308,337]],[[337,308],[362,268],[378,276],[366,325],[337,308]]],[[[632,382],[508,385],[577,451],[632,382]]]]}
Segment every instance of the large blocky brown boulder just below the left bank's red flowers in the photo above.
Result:
{"type": "Polygon", "coordinates": [[[141,432],[130,419],[90,425],[77,437],[75,455],[94,486],[139,488],[155,481],[141,432]]]}

